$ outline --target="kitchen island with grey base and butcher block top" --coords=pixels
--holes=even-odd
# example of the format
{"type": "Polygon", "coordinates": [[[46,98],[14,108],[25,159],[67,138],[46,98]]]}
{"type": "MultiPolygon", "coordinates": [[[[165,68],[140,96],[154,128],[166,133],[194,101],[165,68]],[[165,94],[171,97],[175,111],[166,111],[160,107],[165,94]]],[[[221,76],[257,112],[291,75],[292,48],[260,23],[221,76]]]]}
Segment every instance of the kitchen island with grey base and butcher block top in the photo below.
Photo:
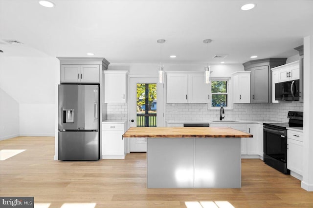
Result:
{"type": "Polygon", "coordinates": [[[131,127],[147,137],[148,188],[241,188],[241,138],[228,127],[131,127]]]}

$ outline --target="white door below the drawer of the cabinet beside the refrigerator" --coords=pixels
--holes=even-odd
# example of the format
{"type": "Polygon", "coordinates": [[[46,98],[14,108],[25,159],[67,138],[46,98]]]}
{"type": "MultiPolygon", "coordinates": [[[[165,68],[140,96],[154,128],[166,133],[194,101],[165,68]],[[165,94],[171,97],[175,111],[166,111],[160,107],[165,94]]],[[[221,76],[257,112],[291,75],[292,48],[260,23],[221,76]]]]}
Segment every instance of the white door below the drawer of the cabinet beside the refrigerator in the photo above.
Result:
{"type": "Polygon", "coordinates": [[[102,131],[102,154],[103,155],[124,155],[123,132],[102,131]]]}

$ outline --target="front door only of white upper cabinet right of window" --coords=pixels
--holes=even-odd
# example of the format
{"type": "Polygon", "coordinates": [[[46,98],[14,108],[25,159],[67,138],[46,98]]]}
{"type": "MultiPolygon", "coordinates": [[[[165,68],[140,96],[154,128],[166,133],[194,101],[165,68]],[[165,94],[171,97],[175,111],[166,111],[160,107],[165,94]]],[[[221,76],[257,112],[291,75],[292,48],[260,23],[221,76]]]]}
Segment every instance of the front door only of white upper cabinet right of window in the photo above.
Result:
{"type": "Polygon", "coordinates": [[[238,92],[240,103],[250,103],[250,74],[239,75],[238,92]]]}

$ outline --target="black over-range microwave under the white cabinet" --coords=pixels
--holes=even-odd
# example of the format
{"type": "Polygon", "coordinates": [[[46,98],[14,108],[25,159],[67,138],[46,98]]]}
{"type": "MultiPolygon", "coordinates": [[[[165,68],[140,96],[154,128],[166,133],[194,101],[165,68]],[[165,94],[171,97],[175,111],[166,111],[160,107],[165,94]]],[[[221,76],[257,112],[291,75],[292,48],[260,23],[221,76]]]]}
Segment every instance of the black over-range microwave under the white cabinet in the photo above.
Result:
{"type": "Polygon", "coordinates": [[[300,80],[275,83],[275,100],[299,101],[300,80]]]}

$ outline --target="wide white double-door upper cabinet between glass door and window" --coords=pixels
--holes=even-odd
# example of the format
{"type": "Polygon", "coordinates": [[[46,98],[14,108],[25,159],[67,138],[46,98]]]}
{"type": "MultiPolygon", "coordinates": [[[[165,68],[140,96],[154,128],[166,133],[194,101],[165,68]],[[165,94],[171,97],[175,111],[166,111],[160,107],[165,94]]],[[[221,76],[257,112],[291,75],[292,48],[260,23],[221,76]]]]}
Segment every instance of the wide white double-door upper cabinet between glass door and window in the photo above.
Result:
{"type": "Polygon", "coordinates": [[[204,82],[204,73],[167,72],[167,103],[208,103],[210,85],[204,82]]]}

